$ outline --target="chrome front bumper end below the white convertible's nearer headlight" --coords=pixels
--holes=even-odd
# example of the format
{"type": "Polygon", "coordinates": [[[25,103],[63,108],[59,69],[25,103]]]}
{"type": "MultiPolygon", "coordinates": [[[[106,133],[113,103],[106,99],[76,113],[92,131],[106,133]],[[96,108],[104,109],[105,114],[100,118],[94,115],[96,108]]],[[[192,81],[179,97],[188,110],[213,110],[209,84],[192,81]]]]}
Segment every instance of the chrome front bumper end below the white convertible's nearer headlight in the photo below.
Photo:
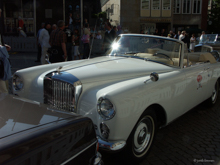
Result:
{"type": "Polygon", "coordinates": [[[102,140],[100,137],[97,137],[97,138],[98,138],[100,150],[120,151],[126,145],[126,141],[106,142],[106,141],[102,140]]]}

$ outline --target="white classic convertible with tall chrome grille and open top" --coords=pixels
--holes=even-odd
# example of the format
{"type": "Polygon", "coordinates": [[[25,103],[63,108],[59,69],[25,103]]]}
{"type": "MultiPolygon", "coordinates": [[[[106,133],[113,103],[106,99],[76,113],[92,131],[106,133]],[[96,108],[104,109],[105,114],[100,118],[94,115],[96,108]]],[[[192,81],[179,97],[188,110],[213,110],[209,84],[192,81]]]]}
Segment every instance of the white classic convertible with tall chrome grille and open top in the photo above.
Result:
{"type": "Polygon", "coordinates": [[[92,119],[100,149],[141,160],[158,128],[207,100],[215,104],[220,63],[208,52],[151,35],[118,36],[107,56],[17,71],[13,93],[92,119]]]}

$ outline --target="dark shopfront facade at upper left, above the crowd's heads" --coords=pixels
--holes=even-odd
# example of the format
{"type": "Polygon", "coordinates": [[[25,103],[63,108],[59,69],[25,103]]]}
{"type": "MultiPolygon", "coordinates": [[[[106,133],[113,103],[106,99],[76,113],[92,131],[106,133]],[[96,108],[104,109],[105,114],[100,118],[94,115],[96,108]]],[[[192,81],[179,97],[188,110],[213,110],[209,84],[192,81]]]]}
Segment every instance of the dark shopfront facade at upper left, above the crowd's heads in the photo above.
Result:
{"type": "Polygon", "coordinates": [[[56,24],[58,20],[68,19],[69,13],[73,18],[79,14],[83,15],[82,20],[94,22],[92,15],[101,11],[100,0],[1,0],[0,7],[4,34],[13,36],[18,34],[19,17],[26,34],[36,36],[42,22],[56,24]]]}

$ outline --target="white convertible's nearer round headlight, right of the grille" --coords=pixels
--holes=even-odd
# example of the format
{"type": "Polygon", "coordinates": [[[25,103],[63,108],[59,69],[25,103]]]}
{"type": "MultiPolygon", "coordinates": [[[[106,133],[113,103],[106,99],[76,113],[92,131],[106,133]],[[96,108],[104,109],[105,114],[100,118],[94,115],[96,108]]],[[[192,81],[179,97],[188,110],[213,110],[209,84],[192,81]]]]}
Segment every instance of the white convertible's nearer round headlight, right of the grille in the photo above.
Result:
{"type": "Polygon", "coordinates": [[[109,120],[112,119],[115,116],[115,109],[113,104],[108,100],[104,98],[100,98],[98,100],[98,112],[102,116],[103,119],[109,120]]]}

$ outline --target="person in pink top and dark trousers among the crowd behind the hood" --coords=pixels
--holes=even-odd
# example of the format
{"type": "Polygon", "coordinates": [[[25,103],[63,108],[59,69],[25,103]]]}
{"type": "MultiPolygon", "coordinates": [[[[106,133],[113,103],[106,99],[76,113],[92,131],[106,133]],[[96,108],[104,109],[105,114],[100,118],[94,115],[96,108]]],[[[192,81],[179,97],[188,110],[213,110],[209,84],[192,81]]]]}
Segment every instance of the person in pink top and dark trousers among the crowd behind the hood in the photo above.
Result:
{"type": "Polygon", "coordinates": [[[87,59],[89,57],[90,52],[90,31],[88,28],[84,28],[83,36],[82,36],[82,42],[83,42],[83,59],[87,59]]]}

